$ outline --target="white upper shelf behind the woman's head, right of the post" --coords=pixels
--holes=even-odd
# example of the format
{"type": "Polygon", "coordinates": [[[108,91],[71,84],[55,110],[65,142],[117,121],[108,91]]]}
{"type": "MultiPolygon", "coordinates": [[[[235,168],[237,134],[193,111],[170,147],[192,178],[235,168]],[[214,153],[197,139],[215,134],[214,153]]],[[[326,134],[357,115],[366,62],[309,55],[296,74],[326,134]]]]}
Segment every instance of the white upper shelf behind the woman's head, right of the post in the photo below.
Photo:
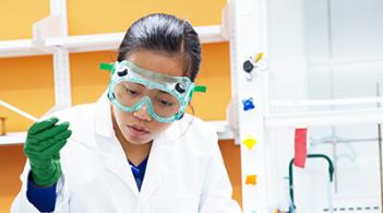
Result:
{"type": "MultiPolygon", "coordinates": [[[[220,25],[198,26],[194,28],[203,44],[227,42],[220,25]]],[[[109,33],[53,37],[45,39],[45,45],[48,48],[57,46],[63,47],[70,52],[109,51],[118,49],[124,34],[125,33],[109,33]]]]}

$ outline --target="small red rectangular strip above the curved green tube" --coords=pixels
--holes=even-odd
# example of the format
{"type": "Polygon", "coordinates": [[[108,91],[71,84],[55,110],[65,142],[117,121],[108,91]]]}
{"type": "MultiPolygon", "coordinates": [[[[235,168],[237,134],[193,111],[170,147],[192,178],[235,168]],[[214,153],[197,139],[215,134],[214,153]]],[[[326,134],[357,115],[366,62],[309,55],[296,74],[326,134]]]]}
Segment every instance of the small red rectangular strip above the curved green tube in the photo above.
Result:
{"type": "Polygon", "coordinates": [[[304,168],[308,156],[307,149],[308,129],[296,129],[294,165],[304,168]]]}

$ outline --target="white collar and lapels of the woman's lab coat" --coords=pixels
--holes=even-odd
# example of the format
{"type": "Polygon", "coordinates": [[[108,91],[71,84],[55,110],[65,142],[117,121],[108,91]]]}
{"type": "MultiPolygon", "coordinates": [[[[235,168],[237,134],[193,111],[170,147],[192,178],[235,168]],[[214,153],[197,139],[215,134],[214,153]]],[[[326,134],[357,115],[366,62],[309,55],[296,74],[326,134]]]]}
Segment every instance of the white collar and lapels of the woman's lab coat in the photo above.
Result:
{"type": "Polygon", "coordinates": [[[110,102],[107,92],[96,103],[96,134],[99,138],[99,150],[105,162],[105,167],[118,176],[135,194],[140,202],[145,202],[158,186],[168,177],[177,165],[178,159],[173,155],[176,132],[179,131],[179,121],[173,122],[165,132],[153,141],[148,162],[146,165],[145,177],[139,193],[134,176],[130,169],[129,162],[123,149],[115,135],[112,128],[110,102]]]}

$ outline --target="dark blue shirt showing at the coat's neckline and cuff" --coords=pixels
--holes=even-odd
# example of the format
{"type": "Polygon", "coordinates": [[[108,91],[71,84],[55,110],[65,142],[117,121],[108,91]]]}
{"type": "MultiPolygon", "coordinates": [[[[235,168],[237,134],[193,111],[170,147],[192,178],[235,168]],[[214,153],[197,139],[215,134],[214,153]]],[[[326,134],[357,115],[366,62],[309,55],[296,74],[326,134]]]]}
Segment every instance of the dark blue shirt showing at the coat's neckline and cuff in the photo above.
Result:
{"type": "MultiPolygon", "coordinates": [[[[129,165],[132,169],[135,184],[137,185],[139,191],[141,190],[142,182],[144,181],[144,175],[146,170],[148,157],[146,157],[139,166],[134,166],[130,161],[129,165]]],[[[32,173],[28,174],[28,184],[26,189],[26,198],[35,205],[40,212],[53,212],[56,204],[56,187],[55,184],[51,187],[36,187],[32,179],[32,173]]]]}

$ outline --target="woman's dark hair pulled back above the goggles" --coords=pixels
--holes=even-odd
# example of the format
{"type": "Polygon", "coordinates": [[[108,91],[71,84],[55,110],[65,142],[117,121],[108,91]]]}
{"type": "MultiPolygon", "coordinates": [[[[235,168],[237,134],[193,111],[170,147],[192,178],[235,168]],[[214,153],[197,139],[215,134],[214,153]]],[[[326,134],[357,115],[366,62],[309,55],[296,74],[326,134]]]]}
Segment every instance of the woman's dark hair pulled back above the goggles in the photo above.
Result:
{"type": "Polygon", "coordinates": [[[188,21],[164,13],[148,14],[127,31],[118,49],[118,61],[139,49],[184,56],[184,74],[193,82],[200,70],[201,44],[188,21]]]}

